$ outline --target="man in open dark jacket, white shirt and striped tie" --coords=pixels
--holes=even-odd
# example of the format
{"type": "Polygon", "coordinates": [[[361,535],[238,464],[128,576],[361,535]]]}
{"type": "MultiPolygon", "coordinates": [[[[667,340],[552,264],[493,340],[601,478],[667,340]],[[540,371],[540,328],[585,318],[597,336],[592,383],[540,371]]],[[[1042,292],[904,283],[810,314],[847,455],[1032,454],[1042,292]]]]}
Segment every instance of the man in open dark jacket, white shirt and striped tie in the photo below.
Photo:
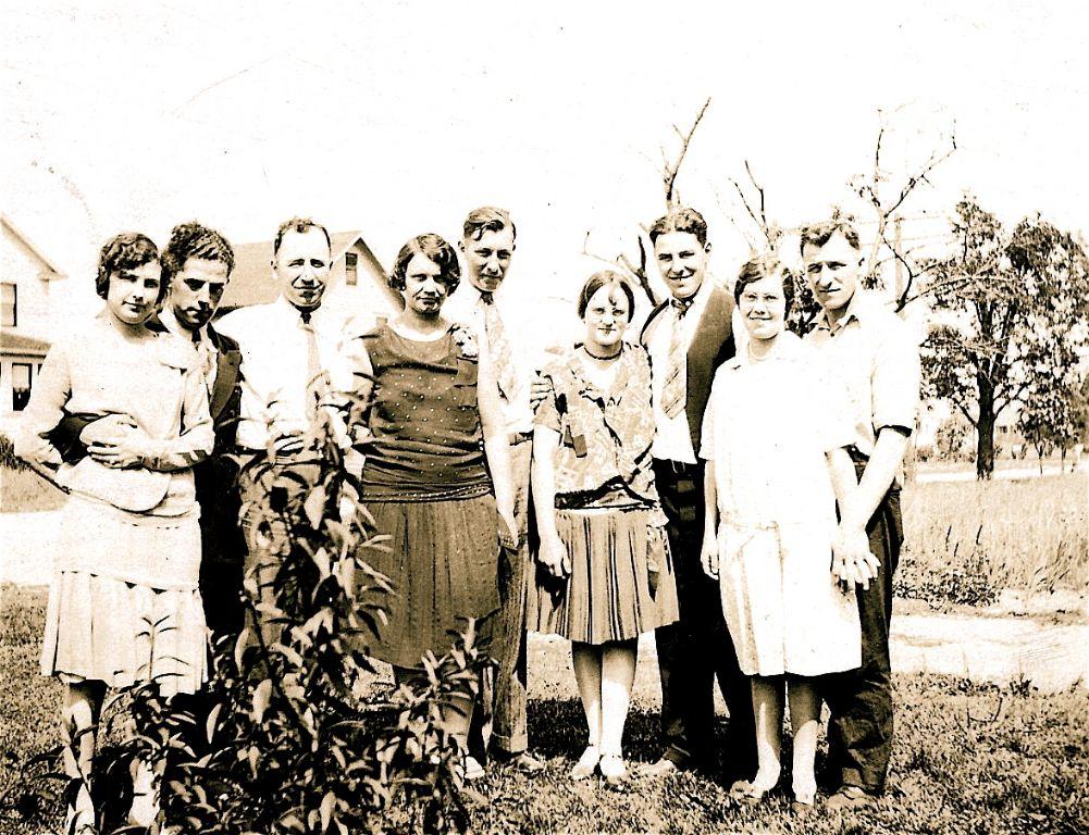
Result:
{"type": "Polygon", "coordinates": [[[714,765],[714,678],[730,711],[723,771],[729,779],[756,769],[749,679],[722,615],[718,582],[700,566],[703,539],[703,410],[714,372],[734,356],[734,300],[707,277],[711,245],[698,211],[678,208],[650,228],[668,302],[647,319],[643,344],[653,370],[654,479],[668,517],[681,609],[678,623],[656,630],[665,751],[650,775],[714,765]]]}

